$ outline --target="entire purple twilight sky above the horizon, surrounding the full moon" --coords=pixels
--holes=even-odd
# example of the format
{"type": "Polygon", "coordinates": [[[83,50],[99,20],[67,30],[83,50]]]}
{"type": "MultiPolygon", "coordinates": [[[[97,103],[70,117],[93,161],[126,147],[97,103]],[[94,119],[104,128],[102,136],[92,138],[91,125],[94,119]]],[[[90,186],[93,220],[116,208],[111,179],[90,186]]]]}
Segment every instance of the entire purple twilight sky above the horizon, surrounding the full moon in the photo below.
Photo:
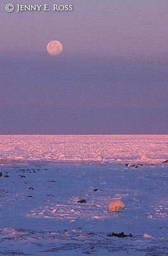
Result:
{"type": "Polygon", "coordinates": [[[17,4],[44,1],[0,6],[0,134],[167,134],[166,0],[17,4]],[[58,56],[50,40],[62,43],[58,56]]]}

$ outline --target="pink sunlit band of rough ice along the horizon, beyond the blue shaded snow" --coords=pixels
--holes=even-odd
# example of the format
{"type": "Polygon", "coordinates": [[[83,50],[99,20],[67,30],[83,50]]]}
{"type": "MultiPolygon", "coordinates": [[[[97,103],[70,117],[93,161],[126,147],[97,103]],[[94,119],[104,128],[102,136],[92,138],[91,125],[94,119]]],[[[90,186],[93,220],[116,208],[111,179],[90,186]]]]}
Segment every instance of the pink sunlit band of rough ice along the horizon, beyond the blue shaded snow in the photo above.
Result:
{"type": "Polygon", "coordinates": [[[162,163],[168,135],[0,135],[2,161],[162,163]]]}

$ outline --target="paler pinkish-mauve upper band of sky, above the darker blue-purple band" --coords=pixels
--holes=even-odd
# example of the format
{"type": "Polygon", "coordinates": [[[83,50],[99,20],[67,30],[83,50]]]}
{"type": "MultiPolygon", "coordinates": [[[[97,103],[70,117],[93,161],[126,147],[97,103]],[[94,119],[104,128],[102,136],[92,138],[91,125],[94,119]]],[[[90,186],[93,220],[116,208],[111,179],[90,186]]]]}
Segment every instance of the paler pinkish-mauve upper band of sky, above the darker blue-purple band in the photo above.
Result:
{"type": "MultiPolygon", "coordinates": [[[[167,53],[167,0],[71,0],[68,3],[73,4],[74,10],[68,13],[7,13],[6,3],[4,0],[0,8],[0,47],[5,52],[42,54],[46,44],[57,39],[64,44],[65,54],[167,53]]],[[[20,1],[13,3],[16,6],[20,1]]],[[[24,4],[43,1],[29,0],[24,4]]]]}

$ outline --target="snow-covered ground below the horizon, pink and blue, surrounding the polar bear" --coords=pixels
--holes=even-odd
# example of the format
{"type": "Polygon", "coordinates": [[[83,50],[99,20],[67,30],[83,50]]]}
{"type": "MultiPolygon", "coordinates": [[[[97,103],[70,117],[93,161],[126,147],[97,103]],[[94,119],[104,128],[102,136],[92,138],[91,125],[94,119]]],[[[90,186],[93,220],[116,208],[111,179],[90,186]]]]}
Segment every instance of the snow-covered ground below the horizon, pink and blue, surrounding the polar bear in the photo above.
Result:
{"type": "MultiPolygon", "coordinates": [[[[34,136],[34,145],[33,136],[31,139],[28,136],[29,141],[21,137],[3,136],[3,142],[1,140],[1,255],[167,255],[168,163],[162,163],[167,159],[167,136],[158,136],[155,140],[143,136],[141,142],[146,140],[146,143],[140,145],[139,142],[139,150],[133,138],[130,142],[120,138],[120,147],[116,145],[120,148],[118,151],[113,151],[111,141],[108,145],[110,136],[102,138],[106,141],[104,145],[100,138],[98,141],[92,136],[92,141],[89,143],[88,139],[87,142],[87,152],[82,149],[86,154],[84,161],[79,160],[83,144],[76,142],[70,148],[68,142],[62,154],[72,156],[73,160],[66,157],[66,162],[58,159],[60,163],[55,163],[57,157],[54,155],[58,146],[50,151],[51,136],[48,144],[40,136],[40,140],[34,136]],[[104,161],[94,161],[93,148],[100,150],[94,140],[101,144],[101,150],[106,149],[102,151],[104,161]],[[152,147],[152,143],[155,146],[152,147]],[[109,163],[110,147],[116,163],[109,163]],[[121,147],[125,152],[123,157],[119,153],[121,147]],[[29,151],[25,152],[25,148],[29,151]],[[126,151],[132,154],[130,162],[125,161],[129,159],[126,151]],[[43,158],[45,152],[53,156],[53,161],[43,158]],[[141,154],[146,158],[141,159],[141,154]],[[90,156],[93,156],[92,161],[86,160],[90,156]],[[131,164],[125,166],[127,163],[131,164]],[[81,199],[86,203],[78,203],[81,199]],[[109,203],[116,199],[125,203],[121,213],[108,211],[109,203]],[[132,237],[110,236],[112,232],[132,234],[132,237]]],[[[75,136],[73,139],[78,141],[75,136]]],[[[113,144],[116,140],[113,137],[113,144]]]]}

